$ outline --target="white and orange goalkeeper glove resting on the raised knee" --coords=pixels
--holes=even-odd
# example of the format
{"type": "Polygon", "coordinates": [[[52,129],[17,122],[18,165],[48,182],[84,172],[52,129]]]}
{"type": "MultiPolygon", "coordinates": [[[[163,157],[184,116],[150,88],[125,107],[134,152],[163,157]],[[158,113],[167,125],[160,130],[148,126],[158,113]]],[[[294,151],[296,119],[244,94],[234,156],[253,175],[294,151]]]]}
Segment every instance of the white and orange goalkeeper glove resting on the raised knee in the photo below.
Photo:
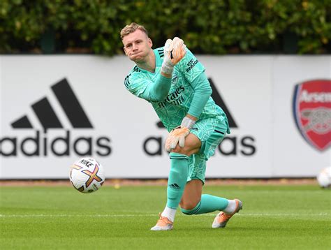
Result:
{"type": "Polygon", "coordinates": [[[196,124],[193,119],[189,117],[184,117],[182,124],[177,126],[177,128],[172,129],[168,134],[167,140],[165,140],[165,149],[170,152],[172,149],[175,149],[177,144],[179,147],[185,146],[185,138],[190,133],[190,129],[193,128],[196,124]]]}

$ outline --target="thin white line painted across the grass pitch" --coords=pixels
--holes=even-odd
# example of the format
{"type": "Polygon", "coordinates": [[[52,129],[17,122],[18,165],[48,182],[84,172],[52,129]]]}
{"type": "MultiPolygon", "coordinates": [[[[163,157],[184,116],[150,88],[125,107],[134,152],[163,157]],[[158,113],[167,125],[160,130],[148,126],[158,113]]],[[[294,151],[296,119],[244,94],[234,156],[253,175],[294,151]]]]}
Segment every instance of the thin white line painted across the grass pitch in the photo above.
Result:
{"type": "MultiPolygon", "coordinates": [[[[198,214],[197,216],[215,216],[216,214],[198,214]]],[[[265,216],[265,217],[278,217],[278,216],[329,216],[328,213],[318,213],[318,214],[236,214],[236,216],[265,216]]],[[[148,216],[158,216],[157,214],[0,214],[0,218],[29,218],[29,217],[148,217],[148,216]]],[[[179,216],[185,216],[184,214],[179,214],[179,216]]]]}

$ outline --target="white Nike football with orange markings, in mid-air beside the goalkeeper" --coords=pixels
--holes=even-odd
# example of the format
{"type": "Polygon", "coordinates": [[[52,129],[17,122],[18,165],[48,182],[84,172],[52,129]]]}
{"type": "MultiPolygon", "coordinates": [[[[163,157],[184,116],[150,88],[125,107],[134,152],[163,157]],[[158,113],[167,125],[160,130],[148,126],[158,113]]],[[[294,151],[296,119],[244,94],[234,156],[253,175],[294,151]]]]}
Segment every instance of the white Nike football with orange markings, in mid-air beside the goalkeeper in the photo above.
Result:
{"type": "Polygon", "coordinates": [[[82,158],[70,168],[70,182],[82,193],[97,191],[105,182],[103,166],[93,158],[82,158]]]}

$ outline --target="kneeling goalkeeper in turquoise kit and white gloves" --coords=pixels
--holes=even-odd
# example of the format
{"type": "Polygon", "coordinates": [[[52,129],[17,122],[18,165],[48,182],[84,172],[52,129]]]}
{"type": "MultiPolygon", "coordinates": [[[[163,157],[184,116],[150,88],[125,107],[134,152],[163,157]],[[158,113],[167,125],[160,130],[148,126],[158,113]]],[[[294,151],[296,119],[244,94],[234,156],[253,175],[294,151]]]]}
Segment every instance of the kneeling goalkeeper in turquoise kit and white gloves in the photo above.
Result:
{"type": "Polygon", "coordinates": [[[122,29],[121,38],[136,64],[124,80],[126,88],[151,103],[170,132],[167,203],[151,230],[171,230],[178,205],[189,215],[221,211],[212,227],[225,227],[242,202],[202,194],[206,161],[230,133],[226,115],[210,97],[204,66],[177,37],[152,50],[147,30],[134,22],[122,29]]]}

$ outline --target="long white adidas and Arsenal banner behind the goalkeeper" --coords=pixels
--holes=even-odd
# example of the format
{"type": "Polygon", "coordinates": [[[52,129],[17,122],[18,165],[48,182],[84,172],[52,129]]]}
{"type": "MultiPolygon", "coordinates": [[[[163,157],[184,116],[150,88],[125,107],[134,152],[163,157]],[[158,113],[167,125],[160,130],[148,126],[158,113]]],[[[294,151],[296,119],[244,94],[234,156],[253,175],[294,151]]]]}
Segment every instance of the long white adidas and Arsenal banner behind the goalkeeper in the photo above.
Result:
{"type": "MultiPolygon", "coordinates": [[[[330,165],[331,57],[198,59],[231,129],[207,177],[314,177],[330,165]]],[[[66,179],[82,156],[106,178],[168,177],[167,131],[124,87],[132,66],[124,56],[0,56],[0,178],[66,179]]]]}

